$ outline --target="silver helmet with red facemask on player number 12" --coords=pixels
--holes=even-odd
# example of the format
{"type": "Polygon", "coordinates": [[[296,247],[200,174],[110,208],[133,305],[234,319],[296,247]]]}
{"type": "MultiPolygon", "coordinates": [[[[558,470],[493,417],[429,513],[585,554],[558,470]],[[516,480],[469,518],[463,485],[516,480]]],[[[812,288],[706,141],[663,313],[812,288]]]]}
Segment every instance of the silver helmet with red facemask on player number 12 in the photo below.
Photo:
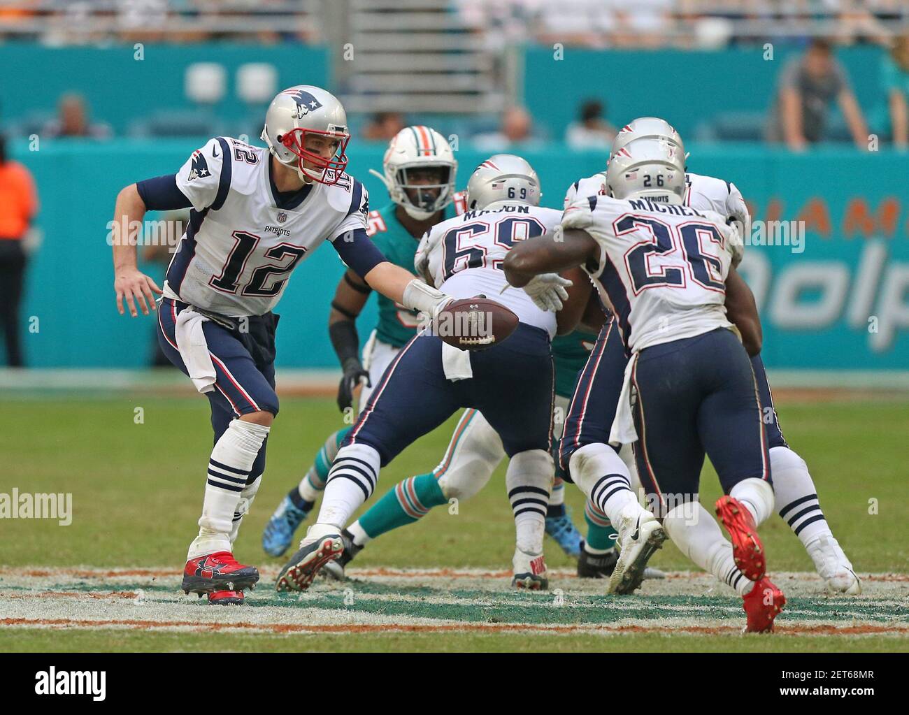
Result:
{"type": "Polygon", "coordinates": [[[350,133],[344,106],[334,94],[312,84],[296,84],[272,100],[265,112],[262,140],[279,162],[294,167],[305,182],[336,184],[347,166],[350,133]],[[307,150],[307,135],[332,140],[332,157],[307,150]]]}

